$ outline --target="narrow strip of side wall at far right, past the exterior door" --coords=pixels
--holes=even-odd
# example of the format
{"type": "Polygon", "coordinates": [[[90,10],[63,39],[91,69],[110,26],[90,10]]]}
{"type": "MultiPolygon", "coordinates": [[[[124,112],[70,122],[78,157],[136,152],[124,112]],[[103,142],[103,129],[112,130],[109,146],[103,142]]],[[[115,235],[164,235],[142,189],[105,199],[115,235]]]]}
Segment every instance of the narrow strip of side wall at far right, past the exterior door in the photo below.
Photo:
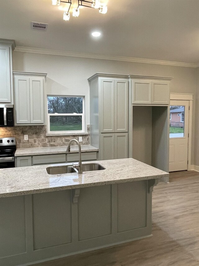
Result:
{"type": "Polygon", "coordinates": [[[196,109],[195,109],[194,165],[199,171],[199,67],[196,69],[196,109]]]}

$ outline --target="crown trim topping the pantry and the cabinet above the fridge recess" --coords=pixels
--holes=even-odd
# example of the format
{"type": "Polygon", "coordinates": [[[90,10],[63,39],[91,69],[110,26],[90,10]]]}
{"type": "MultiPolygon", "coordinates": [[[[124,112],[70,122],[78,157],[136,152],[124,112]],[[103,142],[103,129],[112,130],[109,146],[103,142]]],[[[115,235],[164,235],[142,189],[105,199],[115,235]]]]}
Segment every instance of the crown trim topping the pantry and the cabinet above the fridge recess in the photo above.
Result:
{"type": "Polygon", "coordinates": [[[159,76],[143,76],[143,75],[121,75],[121,74],[108,74],[108,73],[96,73],[88,78],[88,81],[96,78],[116,78],[116,79],[144,79],[144,80],[172,80],[172,77],[159,77],[159,76]]]}

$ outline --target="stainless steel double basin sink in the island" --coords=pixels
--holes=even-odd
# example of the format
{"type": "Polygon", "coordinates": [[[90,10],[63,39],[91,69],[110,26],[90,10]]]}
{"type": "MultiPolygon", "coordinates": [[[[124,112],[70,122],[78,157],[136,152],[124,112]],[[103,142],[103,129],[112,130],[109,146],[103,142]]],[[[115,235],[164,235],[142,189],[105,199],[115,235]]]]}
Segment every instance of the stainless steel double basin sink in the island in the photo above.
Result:
{"type": "MultiPolygon", "coordinates": [[[[82,172],[97,171],[106,169],[99,163],[85,163],[82,164],[82,172]]],[[[46,168],[49,175],[78,173],[78,171],[72,167],[72,165],[50,166],[46,168]]]]}

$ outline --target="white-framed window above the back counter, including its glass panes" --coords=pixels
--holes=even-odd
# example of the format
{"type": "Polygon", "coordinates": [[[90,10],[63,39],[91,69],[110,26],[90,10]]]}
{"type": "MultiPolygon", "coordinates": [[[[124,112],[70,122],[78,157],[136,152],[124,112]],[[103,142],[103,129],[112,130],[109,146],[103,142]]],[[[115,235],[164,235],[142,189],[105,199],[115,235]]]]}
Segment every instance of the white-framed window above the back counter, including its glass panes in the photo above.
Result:
{"type": "Polygon", "coordinates": [[[48,96],[48,133],[83,133],[84,98],[48,96]]]}

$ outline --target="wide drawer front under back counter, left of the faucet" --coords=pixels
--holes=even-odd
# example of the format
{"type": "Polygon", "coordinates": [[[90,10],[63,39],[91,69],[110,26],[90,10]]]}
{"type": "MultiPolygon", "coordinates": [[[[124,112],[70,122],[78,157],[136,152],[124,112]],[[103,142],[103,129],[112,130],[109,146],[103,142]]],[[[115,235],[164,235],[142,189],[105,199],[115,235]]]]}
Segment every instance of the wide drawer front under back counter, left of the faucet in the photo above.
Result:
{"type": "Polygon", "coordinates": [[[33,164],[45,164],[55,162],[66,162],[66,154],[49,154],[33,156],[33,164]]]}

